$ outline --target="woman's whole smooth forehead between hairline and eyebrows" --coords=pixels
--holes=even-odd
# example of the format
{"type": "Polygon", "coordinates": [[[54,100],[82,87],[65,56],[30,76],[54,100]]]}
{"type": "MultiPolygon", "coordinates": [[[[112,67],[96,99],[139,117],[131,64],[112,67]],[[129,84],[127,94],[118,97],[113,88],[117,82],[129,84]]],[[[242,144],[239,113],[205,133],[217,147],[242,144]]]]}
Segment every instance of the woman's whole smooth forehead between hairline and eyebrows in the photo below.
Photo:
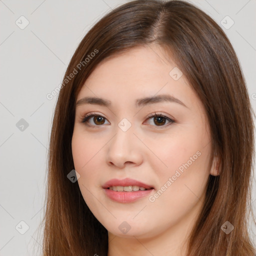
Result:
{"type": "Polygon", "coordinates": [[[159,46],[132,48],[100,62],[86,79],[77,101],[91,96],[124,104],[141,97],[169,94],[191,105],[196,94],[184,75],[173,79],[173,68],[177,68],[176,64],[166,59],[159,46]]]}

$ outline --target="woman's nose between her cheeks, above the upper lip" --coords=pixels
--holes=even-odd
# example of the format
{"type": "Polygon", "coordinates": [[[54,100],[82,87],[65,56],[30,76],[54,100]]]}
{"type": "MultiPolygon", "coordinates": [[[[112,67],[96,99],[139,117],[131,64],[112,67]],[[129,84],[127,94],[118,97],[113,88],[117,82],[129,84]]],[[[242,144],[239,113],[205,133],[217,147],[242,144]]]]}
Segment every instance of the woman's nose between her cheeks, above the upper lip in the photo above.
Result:
{"type": "Polygon", "coordinates": [[[108,165],[121,169],[128,165],[129,167],[137,166],[143,160],[143,143],[133,133],[132,126],[126,131],[117,127],[115,135],[106,145],[108,146],[106,154],[108,165]]]}

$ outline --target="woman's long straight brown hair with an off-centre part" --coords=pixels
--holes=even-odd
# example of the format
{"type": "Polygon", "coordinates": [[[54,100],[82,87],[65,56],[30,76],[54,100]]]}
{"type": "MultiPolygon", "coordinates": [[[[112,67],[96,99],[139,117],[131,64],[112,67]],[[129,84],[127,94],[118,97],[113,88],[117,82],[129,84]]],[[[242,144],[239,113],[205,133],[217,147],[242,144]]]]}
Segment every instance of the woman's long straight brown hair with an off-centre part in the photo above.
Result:
{"type": "Polygon", "coordinates": [[[118,6],[87,32],[74,52],[50,134],[43,256],[107,255],[107,230],[84,202],[78,183],[67,178],[74,169],[75,101],[86,78],[103,59],[151,43],[174,59],[199,96],[211,131],[211,159],[214,154],[219,157],[220,174],[209,175],[187,255],[254,256],[247,230],[254,113],[244,78],[222,29],[203,11],[180,0],[135,0],[118,6]],[[234,226],[229,234],[221,230],[225,221],[234,226]]]}

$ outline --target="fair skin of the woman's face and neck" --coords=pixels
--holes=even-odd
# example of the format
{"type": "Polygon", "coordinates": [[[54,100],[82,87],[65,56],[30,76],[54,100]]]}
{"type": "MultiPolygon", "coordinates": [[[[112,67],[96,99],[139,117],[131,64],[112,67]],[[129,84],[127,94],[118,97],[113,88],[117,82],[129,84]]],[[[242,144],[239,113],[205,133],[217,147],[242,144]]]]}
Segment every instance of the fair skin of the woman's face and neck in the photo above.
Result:
{"type": "MultiPolygon", "coordinates": [[[[203,105],[182,75],[174,80],[169,72],[172,59],[157,45],[136,47],[102,61],[79,91],[111,101],[111,106],[76,106],[72,155],[82,196],[95,217],[108,230],[108,256],[185,255],[187,237],[200,212],[209,174],[216,175],[210,162],[211,141],[203,105]],[[169,94],[185,105],[157,102],[137,107],[135,99],[169,94]],[[81,118],[90,112],[104,117],[81,118]],[[150,113],[174,120],[159,125],[150,113]],[[127,131],[118,123],[126,118],[127,131]],[[158,124],[158,125],[157,125],[158,124]],[[102,185],[111,178],[130,177],[154,186],[153,195],[190,157],[200,153],[155,200],[149,196],[134,202],[109,199],[102,185]],[[118,226],[126,221],[126,233],[118,226]]],[[[164,123],[163,120],[163,123],[164,123]]],[[[151,196],[152,198],[152,196],[151,196]]],[[[96,252],[95,252],[96,253],[96,252]]]]}

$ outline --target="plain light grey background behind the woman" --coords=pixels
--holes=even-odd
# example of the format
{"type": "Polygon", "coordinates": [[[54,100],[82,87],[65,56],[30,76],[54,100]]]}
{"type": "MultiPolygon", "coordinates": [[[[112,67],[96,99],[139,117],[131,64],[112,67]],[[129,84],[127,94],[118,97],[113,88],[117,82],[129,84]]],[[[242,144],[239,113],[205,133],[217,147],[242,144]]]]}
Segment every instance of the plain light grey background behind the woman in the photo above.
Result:
{"type": "MultiPolygon", "coordinates": [[[[127,1],[0,0],[1,256],[40,255],[42,237],[37,229],[43,216],[46,155],[57,99],[54,96],[49,100],[46,94],[61,83],[72,54],[88,29],[104,13],[124,2],[127,1]],[[22,15],[29,22],[23,29],[22,15]],[[20,221],[28,225],[27,231],[20,221]]],[[[226,15],[234,21],[230,28],[222,28],[238,55],[255,111],[256,0],[190,2],[220,26],[221,20],[226,27],[231,24],[230,19],[223,19],[226,15]]],[[[255,227],[249,231],[254,238],[255,227]]]]}

